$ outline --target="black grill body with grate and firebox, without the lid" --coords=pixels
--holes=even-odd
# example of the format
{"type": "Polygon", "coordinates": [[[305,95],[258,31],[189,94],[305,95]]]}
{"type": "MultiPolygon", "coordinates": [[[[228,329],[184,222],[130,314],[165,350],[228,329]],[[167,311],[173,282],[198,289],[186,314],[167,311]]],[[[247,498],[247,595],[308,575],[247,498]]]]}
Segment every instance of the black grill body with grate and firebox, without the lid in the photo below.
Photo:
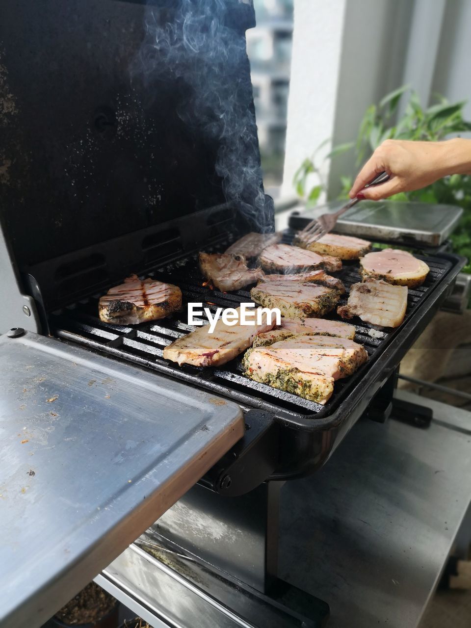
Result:
{"type": "MultiPolygon", "coordinates": [[[[230,229],[227,222],[221,225],[230,229]]],[[[291,242],[294,233],[287,230],[284,242],[291,242]]],[[[227,244],[224,234],[219,242],[205,250],[224,251],[227,244]]],[[[252,474],[247,477],[244,473],[239,477],[234,469],[237,464],[229,456],[217,465],[211,479],[207,480],[208,485],[218,492],[236,495],[267,477],[293,479],[313,472],[328,459],[367,409],[373,416],[376,409],[372,404],[374,398],[379,396],[385,404],[389,396],[391,401],[391,382],[400,360],[440,307],[462,264],[460,258],[448,253],[419,257],[430,266],[430,274],[423,286],[409,290],[403,325],[396,330],[377,332],[368,323],[356,319],[355,340],[365,346],[369,360],[353,376],[335,382],[332,398],[325,406],[252,381],[243,374],[241,357],[222,367],[210,368],[178,366],[164,360],[165,346],[194,328],[187,324],[185,308],[170,318],[138,326],[110,325],[98,318],[100,293],[97,293],[48,313],[48,327],[51,333],[67,342],[77,342],[114,359],[127,360],[240,403],[246,410],[246,422],[251,430],[247,432],[247,446],[242,445],[236,455],[239,465],[244,468],[247,460],[253,460],[252,474]],[[253,447],[256,436],[264,443],[259,443],[259,448],[253,447]],[[227,486],[223,480],[229,474],[229,467],[231,482],[227,486]]],[[[347,288],[347,295],[340,302],[343,304],[347,301],[349,286],[360,281],[358,264],[345,263],[342,271],[335,274],[347,288]]],[[[246,290],[222,293],[203,286],[196,252],[186,256],[180,254],[171,263],[148,270],[147,275],[180,286],[185,302],[202,302],[212,311],[217,307],[237,307],[241,302],[251,301],[246,290]]],[[[329,316],[338,319],[335,312],[329,316]]]]}

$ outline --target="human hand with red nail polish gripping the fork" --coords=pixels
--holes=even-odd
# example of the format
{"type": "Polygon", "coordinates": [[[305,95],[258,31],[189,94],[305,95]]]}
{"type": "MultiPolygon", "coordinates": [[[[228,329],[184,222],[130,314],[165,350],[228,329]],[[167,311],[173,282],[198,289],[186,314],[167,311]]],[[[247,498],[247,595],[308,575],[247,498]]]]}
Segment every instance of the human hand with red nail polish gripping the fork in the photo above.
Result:
{"type": "Polygon", "coordinates": [[[387,139],[365,163],[349,196],[379,200],[399,192],[419,190],[442,176],[466,173],[467,168],[471,169],[470,140],[414,142],[387,139]],[[365,188],[382,171],[387,172],[389,180],[365,188]]]}

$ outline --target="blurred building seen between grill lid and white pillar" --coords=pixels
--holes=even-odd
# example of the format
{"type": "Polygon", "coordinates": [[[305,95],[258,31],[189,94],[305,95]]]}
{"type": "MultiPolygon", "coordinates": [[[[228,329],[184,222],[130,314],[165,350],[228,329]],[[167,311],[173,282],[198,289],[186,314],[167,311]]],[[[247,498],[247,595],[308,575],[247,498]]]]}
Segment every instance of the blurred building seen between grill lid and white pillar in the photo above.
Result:
{"type": "Polygon", "coordinates": [[[254,0],[257,26],[247,31],[264,183],[276,195],[283,180],[290,89],[293,0],[254,0]]]}

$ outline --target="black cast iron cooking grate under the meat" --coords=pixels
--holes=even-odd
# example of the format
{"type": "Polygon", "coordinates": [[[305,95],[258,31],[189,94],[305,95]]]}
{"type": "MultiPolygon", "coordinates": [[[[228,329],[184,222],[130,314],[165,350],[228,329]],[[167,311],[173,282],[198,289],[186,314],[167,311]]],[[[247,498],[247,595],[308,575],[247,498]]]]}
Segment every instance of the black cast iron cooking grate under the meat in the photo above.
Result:
{"type": "MultiPolygon", "coordinates": [[[[294,232],[285,232],[283,241],[291,242],[293,234],[294,232]]],[[[210,251],[211,249],[207,250],[210,251]]],[[[219,247],[219,250],[224,250],[224,247],[219,247]]],[[[426,296],[452,267],[452,263],[442,257],[418,257],[424,259],[430,266],[430,273],[425,284],[409,290],[408,309],[403,325],[421,305],[425,306],[426,296]]],[[[357,263],[344,263],[341,271],[332,274],[342,279],[347,289],[347,295],[350,285],[360,281],[357,263]]],[[[249,291],[246,290],[222,293],[203,286],[204,279],[198,269],[196,254],[177,263],[169,264],[166,268],[156,269],[156,271],[146,274],[146,276],[148,275],[154,279],[168,281],[180,286],[184,303],[201,301],[212,311],[216,307],[237,307],[239,303],[251,301],[249,291]]],[[[347,295],[342,298],[340,305],[346,303],[347,295]]],[[[360,322],[358,318],[352,320],[352,323],[360,322],[360,324],[355,324],[355,340],[364,345],[369,354],[369,360],[354,375],[335,382],[332,397],[325,406],[322,406],[245,377],[241,356],[220,368],[193,367],[190,365],[179,367],[168,362],[163,359],[164,347],[176,338],[195,329],[195,327],[187,325],[186,307],[181,313],[175,313],[172,317],[163,320],[130,325],[129,327],[109,325],[100,322],[97,316],[99,296],[94,295],[54,313],[50,318],[51,332],[64,340],[86,345],[116,358],[134,362],[196,386],[210,389],[214,393],[238,401],[245,407],[264,409],[278,414],[280,412],[288,413],[300,417],[312,415],[312,418],[321,418],[331,414],[347,398],[350,391],[359,384],[367,369],[372,367],[372,364],[386,349],[387,345],[394,341],[394,336],[402,327],[399,327],[398,330],[377,332],[371,325],[360,322]]],[[[335,312],[330,313],[326,318],[342,320],[335,312]]]]}

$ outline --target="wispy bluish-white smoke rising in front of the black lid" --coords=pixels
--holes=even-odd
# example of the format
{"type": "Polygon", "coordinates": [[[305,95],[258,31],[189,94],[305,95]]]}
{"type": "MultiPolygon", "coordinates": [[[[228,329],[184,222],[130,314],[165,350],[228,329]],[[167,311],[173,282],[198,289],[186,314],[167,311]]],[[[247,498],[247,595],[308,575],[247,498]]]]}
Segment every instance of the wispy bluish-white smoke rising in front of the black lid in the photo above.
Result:
{"type": "Polygon", "coordinates": [[[176,113],[188,127],[217,142],[215,171],[227,202],[236,203],[259,229],[267,230],[271,208],[262,187],[246,40],[230,24],[230,6],[241,8],[242,1],[148,5],[133,71],[149,89],[159,78],[188,87],[176,113]]]}

